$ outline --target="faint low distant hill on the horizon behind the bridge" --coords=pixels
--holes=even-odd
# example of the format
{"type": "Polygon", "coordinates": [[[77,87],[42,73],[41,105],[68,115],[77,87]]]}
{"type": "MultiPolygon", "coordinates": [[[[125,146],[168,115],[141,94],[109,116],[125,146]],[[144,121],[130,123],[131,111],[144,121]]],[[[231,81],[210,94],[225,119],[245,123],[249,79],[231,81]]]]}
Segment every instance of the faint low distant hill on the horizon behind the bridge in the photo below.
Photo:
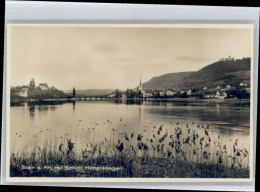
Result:
{"type": "MultiPolygon", "coordinates": [[[[114,92],[115,89],[86,89],[76,90],[76,95],[79,97],[83,96],[105,96],[114,92]]],[[[72,93],[72,90],[66,90],[65,93],[72,93]]]]}

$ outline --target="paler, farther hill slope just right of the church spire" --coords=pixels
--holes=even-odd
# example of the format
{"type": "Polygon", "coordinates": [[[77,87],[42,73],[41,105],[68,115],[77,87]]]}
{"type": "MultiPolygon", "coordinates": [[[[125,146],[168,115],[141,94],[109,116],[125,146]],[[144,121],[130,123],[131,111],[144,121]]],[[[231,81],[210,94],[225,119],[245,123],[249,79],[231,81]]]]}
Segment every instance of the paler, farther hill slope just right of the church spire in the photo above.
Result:
{"type": "Polygon", "coordinates": [[[168,73],[153,77],[143,84],[143,89],[165,89],[179,87],[193,72],[168,73]]]}

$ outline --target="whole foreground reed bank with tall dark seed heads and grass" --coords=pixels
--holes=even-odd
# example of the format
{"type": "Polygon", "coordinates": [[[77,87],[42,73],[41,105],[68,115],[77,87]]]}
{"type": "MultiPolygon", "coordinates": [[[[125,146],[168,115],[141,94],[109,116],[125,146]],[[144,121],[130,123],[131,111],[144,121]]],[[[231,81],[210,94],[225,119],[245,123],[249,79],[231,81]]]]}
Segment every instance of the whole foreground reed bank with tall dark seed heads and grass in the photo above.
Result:
{"type": "MultiPolygon", "coordinates": [[[[108,124],[112,122],[104,122],[104,126],[108,124]]],[[[220,136],[211,135],[208,124],[181,126],[171,122],[165,127],[147,127],[152,130],[149,137],[144,137],[144,131],[109,129],[110,137],[101,143],[90,137],[96,134],[96,128],[82,128],[78,139],[64,134],[41,145],[35,142],[20,151],[11,150],[10,176],[249,177],[249,150],[239,148],[238,140],[223,143],[220,136]],[[75,146],[77,140],[81,140],[80,147],[75,146]]]]}

